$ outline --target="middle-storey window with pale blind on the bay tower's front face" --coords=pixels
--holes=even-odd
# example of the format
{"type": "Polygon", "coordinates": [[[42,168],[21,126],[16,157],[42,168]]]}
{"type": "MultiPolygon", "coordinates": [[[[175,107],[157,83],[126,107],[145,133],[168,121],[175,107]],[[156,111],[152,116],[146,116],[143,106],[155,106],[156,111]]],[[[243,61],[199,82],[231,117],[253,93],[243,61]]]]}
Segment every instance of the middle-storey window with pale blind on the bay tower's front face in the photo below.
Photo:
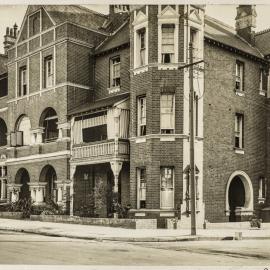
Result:
{"type": "Polygon", "coordinates": [[[160,131],[163,134],[174,133],[174,107],[174,94],[162,94],[160,96],[160,131]]]}

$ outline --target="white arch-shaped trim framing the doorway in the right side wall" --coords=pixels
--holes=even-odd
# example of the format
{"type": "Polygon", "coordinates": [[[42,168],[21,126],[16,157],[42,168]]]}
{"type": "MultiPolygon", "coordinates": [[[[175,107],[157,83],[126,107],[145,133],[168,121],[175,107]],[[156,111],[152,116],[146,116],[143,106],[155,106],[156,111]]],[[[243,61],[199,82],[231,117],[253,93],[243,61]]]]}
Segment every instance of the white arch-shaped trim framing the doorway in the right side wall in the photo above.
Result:
{"type": "Polygon", "coordinates": [[[252,182],[249,176],[244,172],[244,171],[235,171],[234,173],[231,174],[229,177],[229,180],[226,185],[226,215],[230,214],[230,206],[229,206],[229,188],[232,180],[234,179],[235,176],[239,176],[240,179],[242,180],[245,188],[245,205],[243,207],[244,211],[253,211],[254,210],[254,202],[253,202],[253,196],[254,196],[254,191],[252,187],[252,182]]]}

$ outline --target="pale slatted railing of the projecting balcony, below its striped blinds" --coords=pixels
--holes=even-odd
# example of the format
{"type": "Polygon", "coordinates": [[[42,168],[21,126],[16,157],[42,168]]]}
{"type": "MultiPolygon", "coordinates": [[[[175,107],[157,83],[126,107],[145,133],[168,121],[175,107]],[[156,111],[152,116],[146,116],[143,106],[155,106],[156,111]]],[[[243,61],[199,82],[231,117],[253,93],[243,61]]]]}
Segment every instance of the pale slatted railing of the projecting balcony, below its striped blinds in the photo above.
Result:
{"type": "Polygon", "coordinates": [[[74,145],[72,149],[73,159],[102,159],[118,155],[125,157],[129,155],[129,143],[127,140],[110,140],[87,145],[74,145]]]}

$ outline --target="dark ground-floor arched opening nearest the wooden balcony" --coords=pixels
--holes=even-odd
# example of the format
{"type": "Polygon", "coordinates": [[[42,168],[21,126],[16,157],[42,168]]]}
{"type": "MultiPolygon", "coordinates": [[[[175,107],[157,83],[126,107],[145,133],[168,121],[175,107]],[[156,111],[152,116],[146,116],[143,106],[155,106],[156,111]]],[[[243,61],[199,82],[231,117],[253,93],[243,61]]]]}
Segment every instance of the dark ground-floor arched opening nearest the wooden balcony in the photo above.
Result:
{"type": "Polygon", "coordinates": [[[53,200],[57,202],[56,183],[57,176],[55,169],[51,165],[46,165],[40,173],[40,182],[46,182],[45,200],[53,200]]]}

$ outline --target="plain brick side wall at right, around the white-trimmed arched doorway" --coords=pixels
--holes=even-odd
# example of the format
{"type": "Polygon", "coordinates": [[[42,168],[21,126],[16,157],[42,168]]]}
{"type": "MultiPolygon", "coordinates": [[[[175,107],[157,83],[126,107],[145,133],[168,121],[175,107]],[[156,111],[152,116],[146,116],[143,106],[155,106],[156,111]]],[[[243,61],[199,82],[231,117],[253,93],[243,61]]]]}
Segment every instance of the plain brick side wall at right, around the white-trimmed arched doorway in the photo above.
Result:
{"type": "Polygon", "coordinates": [[[228,221],[226,184],[236,170],[246,172],[258,198],[258,180],[266,174],[266,98],[259,95],[260,64],[205,43],[204,201],[206,219],[228,221]],[[237,96],[235,61],[245,63],[245,96],[237,96]],[[234,116],[244,113],[244,155],[234,152],[234,116]]]}

